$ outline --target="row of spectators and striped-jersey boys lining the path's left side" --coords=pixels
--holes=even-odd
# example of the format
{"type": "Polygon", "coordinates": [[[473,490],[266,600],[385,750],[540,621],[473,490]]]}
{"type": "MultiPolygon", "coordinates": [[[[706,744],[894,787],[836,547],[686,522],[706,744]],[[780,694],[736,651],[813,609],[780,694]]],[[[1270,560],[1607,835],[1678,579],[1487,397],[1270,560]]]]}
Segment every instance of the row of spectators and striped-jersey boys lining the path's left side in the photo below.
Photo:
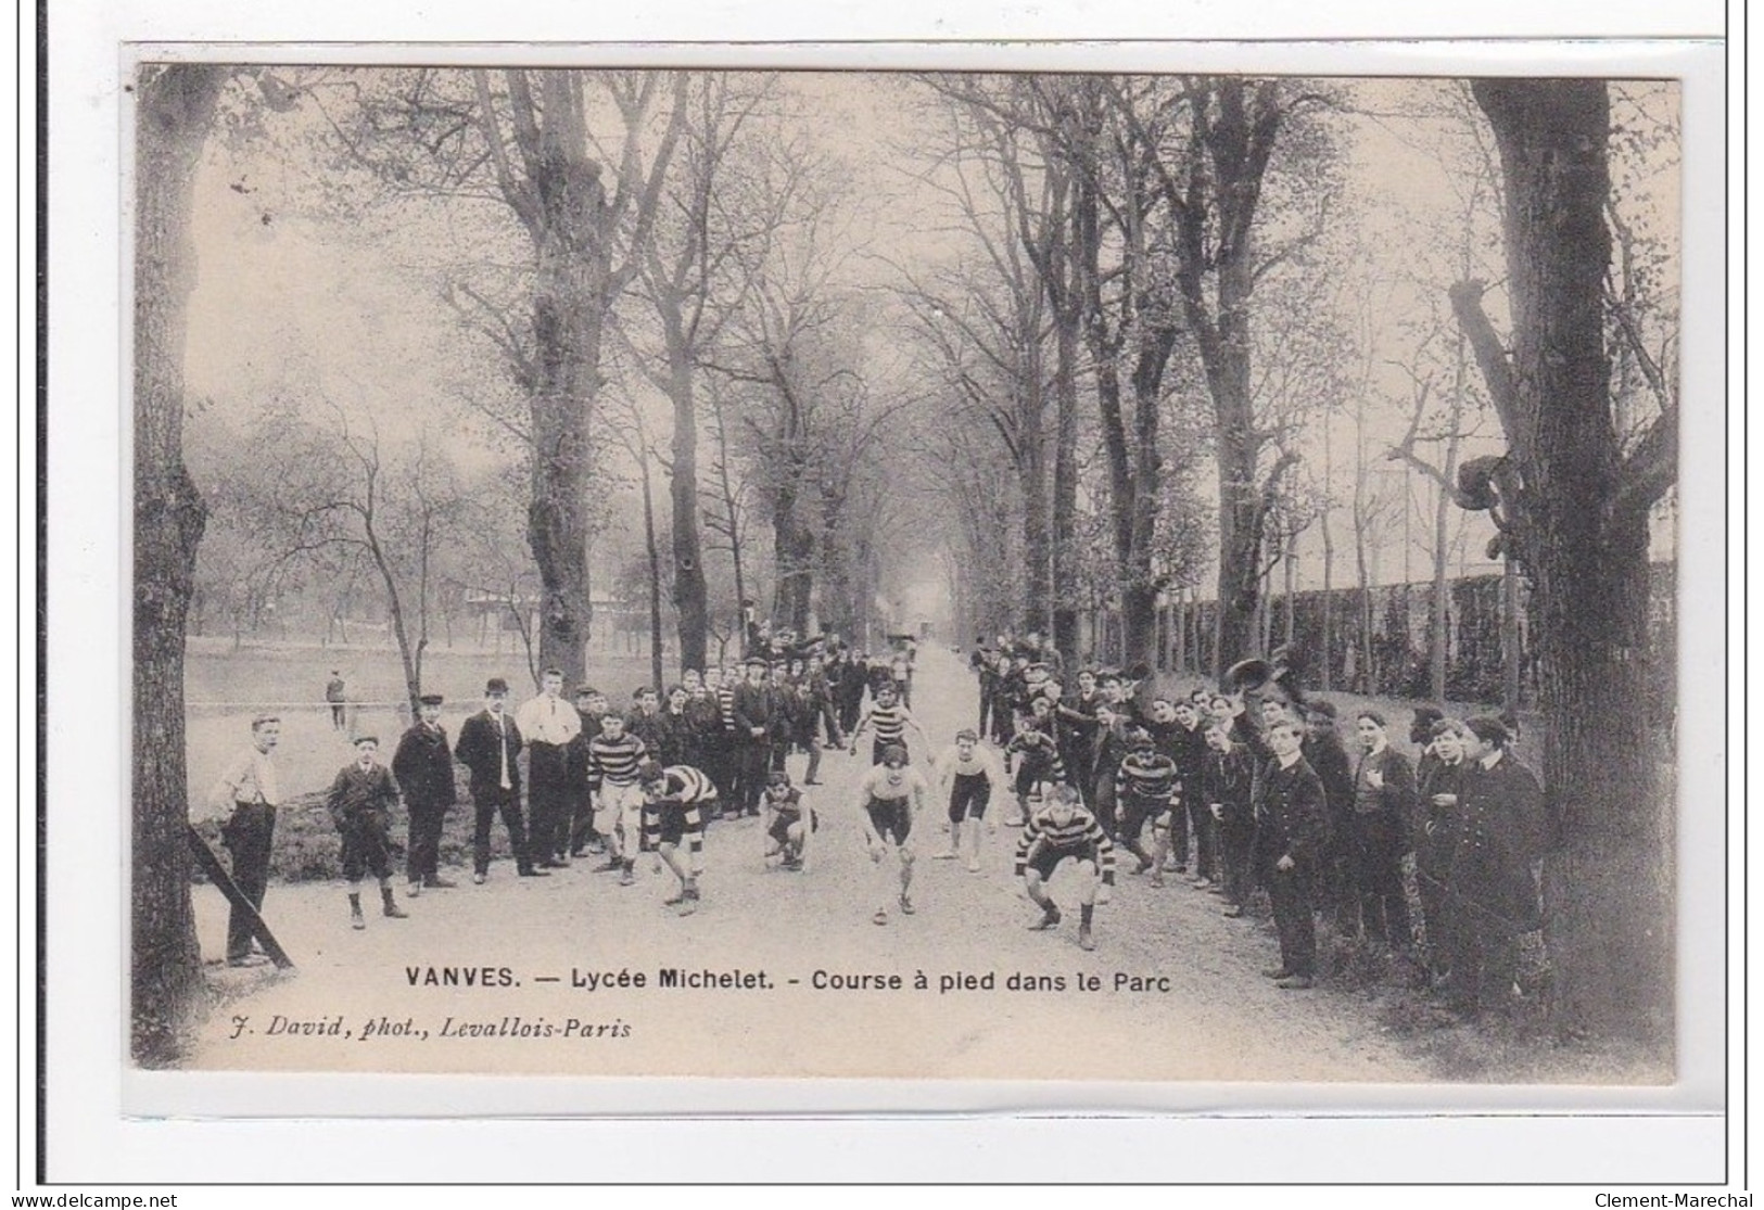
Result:
{"type": "MultiPolygon", "coordinates": [[[[367,875],[379,880],[383,914],[406,915],[393,898],[397,845],[390,836],[390,818],[400,804],[409,815],[407,894],[453,887],[441,877],[437,857],[446,811],[457,801],[455,762],[469,771],[475,882],[489,878],[490,833],[501,817],[520,877],[540,878],[572,861],[605,855],[603,868],[617,870],[628,885],[635,854],[656,847],[646,843],[646,829],[679,831],[667,810],[656,824],[658,813],[646,813],[646,806],[662,799],[663,806],[690,808],[686,840],[693,855],[704,822],[755,817],[762,803],[773,815],[789,813],[794,790],[774,783],[785,758],[806,751],[804,781],[815,785],[822,750],[841,748],[857,730],[866,695],[910,697],[912,647],[900,637],[894,649],[870,654],[836,635],[796,642],[789,631],[771,633],[762,626],[748,635],[748,654],[739,663],[686,668],[677,684],[642,686],[628,704],[616,704],[593,684],[566,695],[563,674],[547,668],[540,693],[512,709],[508,683],[490,677],[483,709],[466,718],[457,744],[448,743],[439,723],[443,697],[422,695],[418,716],[397,739],[388,764],[379,760],[377,736],[351,734],[356,757],[326,794],[342,838],[351,921],[365,926],[360,882],[367,875]],[[693,801],[676,803],[681,794],[693,801]]],[[[332,672],[325,698],[332,725],[344,728],[339,672],[332,672]]],[[[261,908],[268,884],[279,737],[277,716],[254,718],[250,748],[231,762],[213,792],[215,806],[229,810],[222,843],[243,900],[235,903],[229,922],[233,965],[256,960],[254,908],[261,908]]],[[[663,855],[679,841],[677,834],[663,840],[663,855]]],[[[781,845],[794,850],[799,841],[799,834],[789,833],[781,845]]],[[[683,870],[676,873],[690,882],[683,870]]]]}

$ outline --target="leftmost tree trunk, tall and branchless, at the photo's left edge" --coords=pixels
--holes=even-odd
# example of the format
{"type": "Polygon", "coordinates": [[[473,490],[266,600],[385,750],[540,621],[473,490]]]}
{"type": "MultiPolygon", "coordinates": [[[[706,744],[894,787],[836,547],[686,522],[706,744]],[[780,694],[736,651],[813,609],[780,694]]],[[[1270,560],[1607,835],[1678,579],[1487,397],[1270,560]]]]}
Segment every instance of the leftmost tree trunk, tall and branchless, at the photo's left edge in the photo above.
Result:
{"type": "MultiPolygon", "coordinates": [[[[148,69],[152,71],[152,69],[148,69]]],[[[176,1058],[205,1009],[191,910],[183,626],[208,510],[183,466],[183,342],[196,168],[228,69],[175,63],[141,85],[134,275],[134,811],[131,1053],[176,1058]]]]}

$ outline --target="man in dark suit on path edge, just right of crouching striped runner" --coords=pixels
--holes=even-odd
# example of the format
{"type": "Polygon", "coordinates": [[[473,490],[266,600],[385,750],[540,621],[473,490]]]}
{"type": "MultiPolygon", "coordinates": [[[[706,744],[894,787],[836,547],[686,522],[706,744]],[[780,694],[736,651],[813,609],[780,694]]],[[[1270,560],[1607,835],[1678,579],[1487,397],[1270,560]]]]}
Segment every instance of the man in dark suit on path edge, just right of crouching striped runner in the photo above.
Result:
{"type": "Polygon", "coordinates": [[[1274,757],[1251,792],[1256,817],[1256,868],[1268,887],[1281,965],[1268,970],[1277,988],[1309,988],[1316,979],[1318,935],[1311,891],[1327,834],[1323,781],[1300,751],[1304,727],[1282,718],[1268,727],[1274,757]]]}

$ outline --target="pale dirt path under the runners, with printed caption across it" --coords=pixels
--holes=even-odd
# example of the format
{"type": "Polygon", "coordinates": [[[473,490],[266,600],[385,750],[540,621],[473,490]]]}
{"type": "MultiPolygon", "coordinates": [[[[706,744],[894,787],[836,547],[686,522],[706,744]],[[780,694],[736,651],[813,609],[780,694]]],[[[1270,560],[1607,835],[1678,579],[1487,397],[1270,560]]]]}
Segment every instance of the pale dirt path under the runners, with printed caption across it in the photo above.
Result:
{"type": "MultiPolygon", "coordinates": [[[[975,716],[974,677],[924,651],[916,714],[938,744],[975,716]]],[[[868,741],[864,743],[868,757],[868,741]]],[[[914,751],[916,760],[924,753],[914,751]]],[[[1265,926],[1228,921],[1185,884],[1122,875],[1097,908],[1097,949],[1076,945],[1076,910],[1030,933],[1035,910],[1011,877],[1016,831],[984,836],[981,873],[930,861],[940,811],[921,817],[917,914],[870,921],[877,871],[852,804],[863,757],[827,753],[811,790],[822,813],[808,873],[762,866],[759,824],[721,822],[706,841],[704,907],[662,907],[672,880],[639,864],[621,889],[586,863],[545,880],[497,864],[471,885],[406,900],[411,919],[348,926],[335,884],[275,885],[268,912],[300,963],[219,1012],[194,1053],[210,1069],[960,1076],[1083,1079],[1427,1079],[1422,1064],[1365,1020],[1364,1002],[1279,991],[1258,972],[1277,952],[1265,926]],[[487,967],[492,984],[427,986],[429,968],[487,967]],[[658,986],[663,968],[729,974],[764,988],[658,986]],[[506,972],[506,974],[505,974],[506,972]],[[575,986],[640,975],[642,988],[575,986]],[[739,972],[739,974],[732,974],[739,972]],[[818,972],[818,974],[817,974],[818,972]],[[928,988],[917,990],[924,975],[928,988]],[[411,977],[418,986],[411,986],[411,977]],[[870,975],[901,986],[817,990],[870,975]],[[949,988],[946,977],[988,981],[949,988]],[[1044,990],[1013,988],[1030,977],[1044,990]],[[556,979],[557,982],[542,982],[556,979]],[[1057,990],[1046,990],[1046,988],[1057,990]],[[1088,988],[1095,990],[1088,990],[1088,988]],[[247,1018],[231,1037],[235,1018],[247,1018]],[[370,1023],[392,1034],[365,1037],[370,1023]],[[277,1020],[335,1034],[270,1035],[277,1020]],[[460,1035],[462,1027],[487,1035],[460,1035]],[[612,1028],[600,1028],[612,1027],[612,1028]],[[397,1032],[407,1028],[409,1032],[397,1032]],[[547,1034],[549,1030],[549,1034],[547,1034]],[[348,1034],[348,1035],[346,1035],[348,1034]]],[[[801,757],[794,758],[797,771],[801,757]]],[[[459,808],[455,808],[459,810],[459,808]]],[[[1131,864],[1131,863],[1129,863],[1131,864]]],[[[1057,900],[1073,889],[1055,878],[1057,900]]],[[[219,896],[198,891],[205,952],[224,935],[219,896]]],[[[236,975],[238,972],[226,972],[236,975]]]]}

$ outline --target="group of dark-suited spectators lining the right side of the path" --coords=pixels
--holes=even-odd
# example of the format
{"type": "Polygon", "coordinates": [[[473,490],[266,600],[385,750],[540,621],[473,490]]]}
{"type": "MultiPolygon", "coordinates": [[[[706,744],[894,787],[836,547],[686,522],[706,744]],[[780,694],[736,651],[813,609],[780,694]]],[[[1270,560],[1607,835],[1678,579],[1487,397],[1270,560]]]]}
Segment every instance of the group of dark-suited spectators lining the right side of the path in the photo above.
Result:
{"type": "Polygon", "coordinates": [[[1000,635],[970,663],[981,730],[1016,760],[1020,815],[1037,787],[1069,785],[1138,859],[1129,871],[1185,875],[1230,917],[1265,893],[1279,986],[1312,986],[1321,917],[1420,965],[1455,1012],[1510,1004],[1517,942],[1542,922],[1545,843],[1542,788],[1512,751],[1512,720],[1424,706],[1404,737],[1376,709],[1348,720],[1277,683],[1173,697],[1141,667],[1081,668],[1067,684],[1039,635],[1000,635]]]}

